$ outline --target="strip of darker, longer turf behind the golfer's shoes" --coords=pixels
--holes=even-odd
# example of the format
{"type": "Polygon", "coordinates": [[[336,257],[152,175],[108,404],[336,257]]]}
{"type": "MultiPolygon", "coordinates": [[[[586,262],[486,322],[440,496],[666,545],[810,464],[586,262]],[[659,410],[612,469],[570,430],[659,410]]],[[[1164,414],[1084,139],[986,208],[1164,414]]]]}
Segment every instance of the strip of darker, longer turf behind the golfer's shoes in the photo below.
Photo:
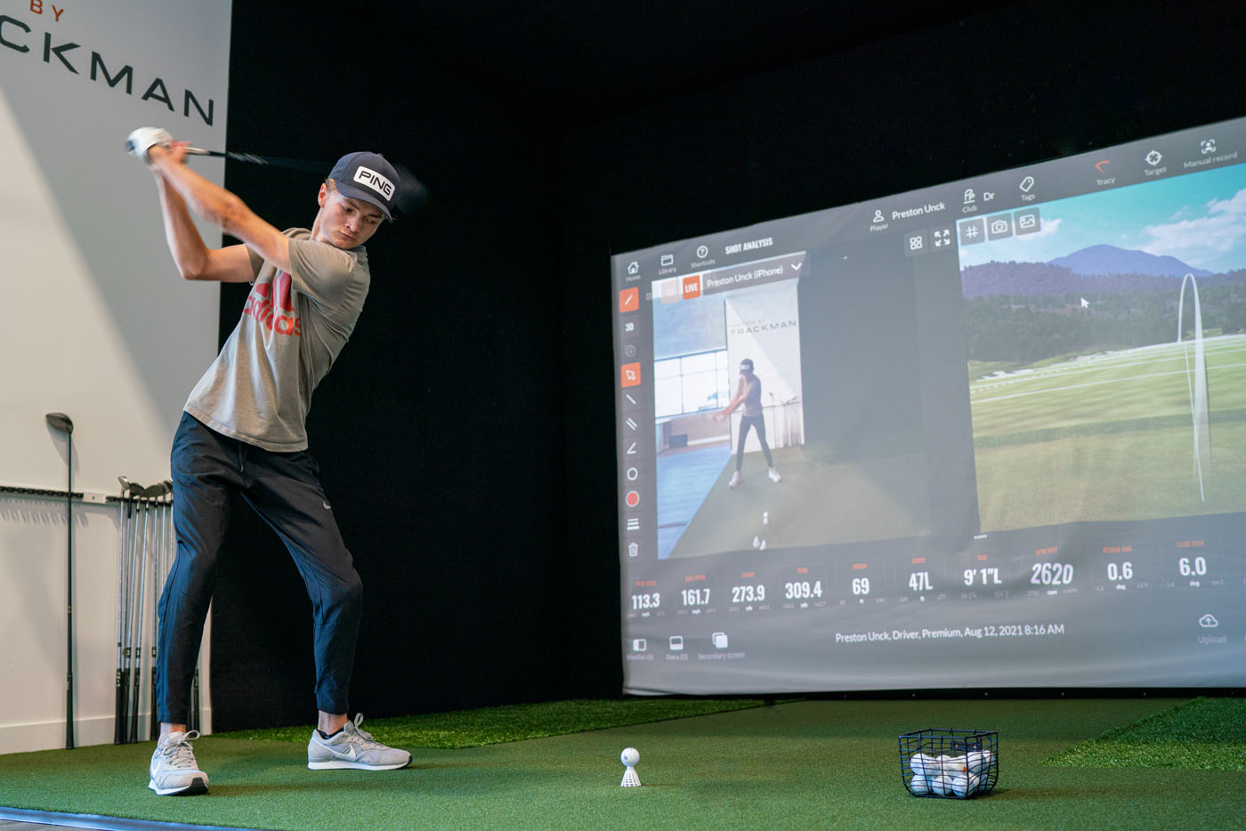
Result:
{"type": "MultiPolygon", "coordinates": [[[[763,701],[756,699],[576,699],[375,719],[368,720],[363,726],[369,733],[384,736],[385,744],[389,745],[454,750],[622,728],[629,724],[687,719],[761,705],[763,701]]],[[[307,741],[308,728],[237,730],[216,735],[226,739],[307,741]]]]}

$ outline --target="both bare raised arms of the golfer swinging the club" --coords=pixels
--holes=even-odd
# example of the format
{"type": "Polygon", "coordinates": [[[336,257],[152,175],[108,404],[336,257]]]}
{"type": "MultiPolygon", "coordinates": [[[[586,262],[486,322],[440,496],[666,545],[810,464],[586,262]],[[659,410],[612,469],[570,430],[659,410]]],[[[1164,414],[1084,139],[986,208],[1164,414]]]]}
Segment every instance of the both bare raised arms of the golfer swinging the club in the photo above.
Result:
{"type": "Polygon", "coordinates": [[[259,218],[237,196],[207,179],[173,158],[164,148],[147,151],[148,163],[161,181],[166,235],[169,249],[183,267],[179,252],[191,273],[187,279],[245,282],[254,279],[243,247],[211,249],[203,244],[189,212],[235,237],[283,272],[290,270],[290,240],[280,230],[259,218]],[[178,204],[181,211],[178,211],[178,204]],[[192,238],[193,235],[193,238],[192,238]],[[196,242],[198,243],[196,245],[196,242]]]}

